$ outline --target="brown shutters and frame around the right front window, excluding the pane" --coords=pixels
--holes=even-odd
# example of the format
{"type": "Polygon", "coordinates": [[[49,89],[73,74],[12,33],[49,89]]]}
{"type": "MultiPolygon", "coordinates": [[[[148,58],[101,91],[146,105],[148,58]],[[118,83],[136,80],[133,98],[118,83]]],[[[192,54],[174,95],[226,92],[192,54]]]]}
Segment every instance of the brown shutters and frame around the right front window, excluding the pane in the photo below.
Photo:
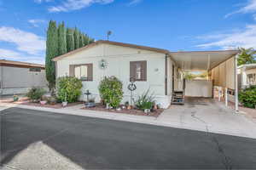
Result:
{"type": "Polygon", "coordinates": [[[130,78],[133,77],[137,82],[147,82],[147,60],[139,60],[139,61],[130,61],[130,78]],[[136,65],[140,64],[141,78],[136,78],[136,65]]]}

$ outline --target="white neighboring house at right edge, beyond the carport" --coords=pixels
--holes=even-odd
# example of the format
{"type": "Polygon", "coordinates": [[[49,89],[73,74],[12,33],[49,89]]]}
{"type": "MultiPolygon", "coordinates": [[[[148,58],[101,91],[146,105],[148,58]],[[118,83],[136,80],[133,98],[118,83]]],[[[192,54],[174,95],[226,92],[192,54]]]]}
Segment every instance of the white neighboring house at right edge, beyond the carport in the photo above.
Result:
{"type": "Polygon", "coordinates": [[[239,88],[256,85],[256,64],[238,66],[239,88]]]}

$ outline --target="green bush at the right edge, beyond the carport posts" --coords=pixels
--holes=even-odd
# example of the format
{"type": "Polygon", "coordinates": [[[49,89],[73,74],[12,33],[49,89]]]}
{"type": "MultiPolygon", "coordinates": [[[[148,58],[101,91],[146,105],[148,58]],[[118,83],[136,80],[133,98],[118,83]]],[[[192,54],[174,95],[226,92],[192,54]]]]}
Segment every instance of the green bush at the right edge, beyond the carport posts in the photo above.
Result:
{"type": "Polygon", "coordinates": [[[239,92],[239,101],[245,107],[255,108],[256,105],[256,86],[245,88],[239,92]]]}

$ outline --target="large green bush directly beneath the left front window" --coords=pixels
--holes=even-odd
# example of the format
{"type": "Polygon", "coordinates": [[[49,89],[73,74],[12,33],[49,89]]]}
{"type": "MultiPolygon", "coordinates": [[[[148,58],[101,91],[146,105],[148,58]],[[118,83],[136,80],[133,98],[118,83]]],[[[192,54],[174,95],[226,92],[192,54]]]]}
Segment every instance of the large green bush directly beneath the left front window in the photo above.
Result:
{"type": "Polygon", "coordinates": [[[69,103],[76,102],[81,95],[82,82],[76,77],[59,77],[57,79],[57,98],[69,103]]]}

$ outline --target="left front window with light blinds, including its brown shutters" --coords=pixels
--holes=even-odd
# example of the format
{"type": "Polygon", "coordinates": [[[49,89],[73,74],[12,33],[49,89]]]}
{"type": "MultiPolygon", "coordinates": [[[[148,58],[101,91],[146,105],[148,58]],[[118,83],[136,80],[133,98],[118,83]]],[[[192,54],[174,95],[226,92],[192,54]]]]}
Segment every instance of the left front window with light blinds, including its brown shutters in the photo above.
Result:
{"type": "Polygon", "coordinates": [[[69,76],[77,77],[82,81],[92,81],[92,64],[70,65],[69,76]]]}

